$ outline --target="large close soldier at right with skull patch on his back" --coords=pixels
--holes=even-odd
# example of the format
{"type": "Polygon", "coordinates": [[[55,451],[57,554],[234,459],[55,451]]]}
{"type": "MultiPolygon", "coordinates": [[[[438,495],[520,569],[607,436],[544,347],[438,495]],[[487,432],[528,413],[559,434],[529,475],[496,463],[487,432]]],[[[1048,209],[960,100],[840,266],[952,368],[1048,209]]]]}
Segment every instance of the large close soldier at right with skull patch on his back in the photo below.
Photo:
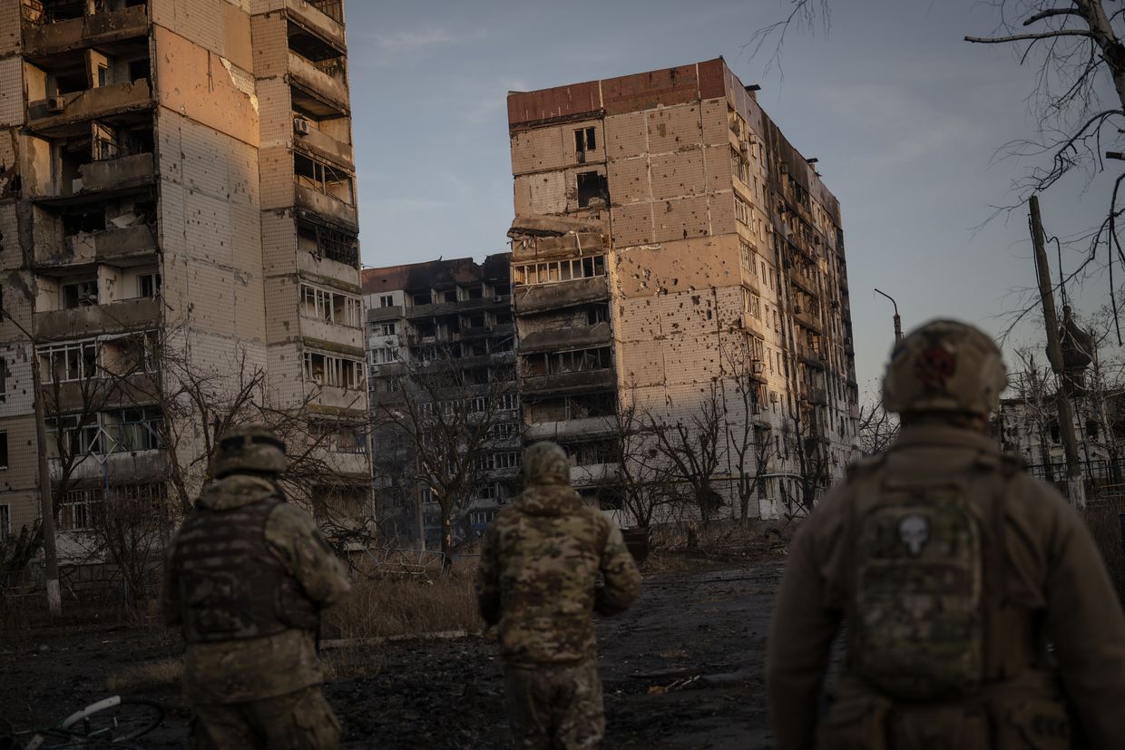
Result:
{"type": "Polygon", "coordinates": [[[1081,518],[988,435],[1006,385],[972,326],[934,320],[896,346],[899,436],[789,550],[766,658],[780,750],[1123,747],[1120,604],[1081,518]]]}

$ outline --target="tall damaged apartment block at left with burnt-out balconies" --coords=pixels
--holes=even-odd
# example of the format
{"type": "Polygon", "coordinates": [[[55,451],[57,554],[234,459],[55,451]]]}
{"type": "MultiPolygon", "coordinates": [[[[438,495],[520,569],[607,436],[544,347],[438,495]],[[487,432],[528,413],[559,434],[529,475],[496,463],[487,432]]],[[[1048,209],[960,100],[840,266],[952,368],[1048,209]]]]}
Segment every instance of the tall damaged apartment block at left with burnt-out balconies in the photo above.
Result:
{"type": "Polygon", "coordinates": [[[58,445],[64,537],[161,505],[173,461],[201,480],[186,389],[253,373],[370,515],[342,0],[0,0],[0,531],[58,445]]]}

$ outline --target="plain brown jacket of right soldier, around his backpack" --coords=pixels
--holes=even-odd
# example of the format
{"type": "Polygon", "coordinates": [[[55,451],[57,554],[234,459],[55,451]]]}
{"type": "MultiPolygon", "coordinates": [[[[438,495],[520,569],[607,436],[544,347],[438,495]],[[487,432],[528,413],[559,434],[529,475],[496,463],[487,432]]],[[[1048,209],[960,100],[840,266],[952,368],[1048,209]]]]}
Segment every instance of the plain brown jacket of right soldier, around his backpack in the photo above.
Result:
{"type": "MultiPolygon", "coordinates": [[[[942,482],[990,463],[997,470],[1002,466],[992,439],[952,426],[919,425],[902,430],[880,471],[942,482]]],[[[856,486],[857,478],[852,476],[834,487],[789,549],[766,656],[771,714],[781,750],[807,750],[814,744],[817,728],[809,717],[818,714],[832,639],[855,595],[845,536],[856,486]]],[[[1046,666],[1040,654],[1050,640],[1055,645],[1058,676],[1089,747],[1119,747],[1125,738],[1120,711],[1125,705],[1125,616],[1089,531],[1054,488],[1022,471],[1009,479],[1001,507],[1002,549],[996,559],[1002,561],[997,586],[1002,602],[990,599],[988,606],[1016,626],[987,638],[986,661],[1020,650],[1023,659],[1009,661],[1026,666],[1017,674],[1002,675],[990,689],[1002,696],[1006,690],[1015,694],[1022,684],[1040,684],[1035,677],[1046,666]]],[[[986,569],[984,575],[996,571],[986,569]]],[[[850,656],[837,683],[840,701],[870,689],[850,674],[849,663],[850,656]]]]}

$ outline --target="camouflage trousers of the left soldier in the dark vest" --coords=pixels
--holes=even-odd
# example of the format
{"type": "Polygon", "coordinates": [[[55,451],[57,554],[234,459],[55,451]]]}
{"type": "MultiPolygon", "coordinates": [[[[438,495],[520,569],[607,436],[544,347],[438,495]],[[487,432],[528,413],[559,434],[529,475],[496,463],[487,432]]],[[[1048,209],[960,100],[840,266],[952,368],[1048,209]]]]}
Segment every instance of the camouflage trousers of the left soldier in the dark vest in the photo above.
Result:
{"type": "Polygon", "coordinates": [[[336,721],[321,687],[314,685],[274,698],[192,706],[191,750],[335,750],[336,721]]]}

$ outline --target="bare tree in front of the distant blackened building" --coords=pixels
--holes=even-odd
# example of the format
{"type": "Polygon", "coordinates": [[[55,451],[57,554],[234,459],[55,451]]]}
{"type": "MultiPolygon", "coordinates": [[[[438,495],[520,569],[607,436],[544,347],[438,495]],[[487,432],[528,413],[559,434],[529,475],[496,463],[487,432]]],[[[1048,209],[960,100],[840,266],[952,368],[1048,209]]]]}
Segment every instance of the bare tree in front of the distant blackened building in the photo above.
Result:
{"type": "Polygon", "coordinates": [[[508,363],[467,369],[448,347],[420,361],[399,362],[398,392],[376,404],[376,426],[394,426],[414,457],[414,479],[441,508],[441,551],[447,563],[452,524],[476,497],[490,468],[496,425],[514,408],[514,377],[508,363]]]}

